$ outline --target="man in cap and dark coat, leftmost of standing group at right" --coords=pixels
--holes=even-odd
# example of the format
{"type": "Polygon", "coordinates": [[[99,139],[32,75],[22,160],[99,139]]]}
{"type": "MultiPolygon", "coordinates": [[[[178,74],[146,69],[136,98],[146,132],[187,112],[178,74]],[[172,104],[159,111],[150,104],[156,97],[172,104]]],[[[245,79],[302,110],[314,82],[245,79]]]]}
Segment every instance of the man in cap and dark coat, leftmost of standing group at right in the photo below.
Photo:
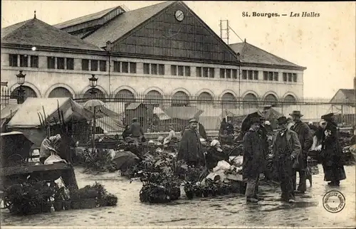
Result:
{"type": "Polygon", "coordinates": [[[261,198],[257,196],[258,180],[261,173],[264,172],[265,155],[264,145],[261,135],[258,133],[260,127],[260,118],[251,119],[251,127],[244,136],[244,161],[243,176],[247,179],[246,201],[256,203],[261,198]]]}

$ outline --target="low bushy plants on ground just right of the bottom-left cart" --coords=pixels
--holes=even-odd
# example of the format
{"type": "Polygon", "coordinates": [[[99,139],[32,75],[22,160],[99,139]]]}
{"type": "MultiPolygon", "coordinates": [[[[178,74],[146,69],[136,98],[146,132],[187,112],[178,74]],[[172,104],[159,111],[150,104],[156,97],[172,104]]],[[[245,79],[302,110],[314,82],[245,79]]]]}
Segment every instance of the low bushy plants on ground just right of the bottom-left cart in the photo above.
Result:
{"type": "Polygon", "coordinates": [[[72,208],[97,208],[115,206],[117,197],[108,193],[104,186],[95,182],[93,186],[85,186],[70,193],[72,208]]]}

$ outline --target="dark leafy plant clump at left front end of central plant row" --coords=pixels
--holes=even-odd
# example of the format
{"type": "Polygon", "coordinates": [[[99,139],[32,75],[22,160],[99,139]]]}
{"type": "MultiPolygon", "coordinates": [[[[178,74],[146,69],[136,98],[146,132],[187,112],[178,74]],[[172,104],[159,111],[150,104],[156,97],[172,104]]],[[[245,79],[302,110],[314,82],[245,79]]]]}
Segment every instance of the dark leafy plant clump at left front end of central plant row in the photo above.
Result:
{"type": "Polygon", "coordinates": [[[140,180],[140,201],[143,203],[167,203],[180,197],[181,181],[176,176],[164,173],[143,173],[140,180]]]}

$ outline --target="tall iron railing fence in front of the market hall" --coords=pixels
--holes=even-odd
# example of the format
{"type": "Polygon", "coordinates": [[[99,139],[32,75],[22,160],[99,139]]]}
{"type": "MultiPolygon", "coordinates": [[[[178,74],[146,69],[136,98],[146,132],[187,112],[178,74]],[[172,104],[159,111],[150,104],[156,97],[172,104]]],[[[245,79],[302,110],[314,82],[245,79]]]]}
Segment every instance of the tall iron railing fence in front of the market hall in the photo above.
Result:
{"type": "MultiPolygon", "coordinates": [[[[211,97],[201,95],[143,95],[127,93],[116,95],[103,95],[97,91],[90,93],[77,93],[73,97],[75,102],[85,105],[91,99],[103,102],[98,108],[95,132],[100,134],[120,134],[127,124],[136,117],[142,124],[145,132],[168,132],[172,126],[176,132],[187,126],[189,119],[196,118],[203,124],[206,131],[219,130],[221,120],[226,118],[233,124],[240,124],[249,113],[266,112],[272,124],[276,125],[276,118],[288,115],[293,110],[299,110],[303,122],[317,124],[322,115],[335,113],[339,124],[355,125],[355,103],[348,100],[333,100],[321,98],[303,98],[298,100],[263,100],[261,98],[240,99],[234,97],[211,97]],[[105,116],[110,114],[110,117],[105,116]]],[[[9,90],[1,88],[1,109],[11,103],[14,95],[9,90]]],[[[16,101],[16,100],[15,100],[16,101]]],[[[91,129],[88,123],[73,127],[75,135],[87,141],[91,129]]]]}

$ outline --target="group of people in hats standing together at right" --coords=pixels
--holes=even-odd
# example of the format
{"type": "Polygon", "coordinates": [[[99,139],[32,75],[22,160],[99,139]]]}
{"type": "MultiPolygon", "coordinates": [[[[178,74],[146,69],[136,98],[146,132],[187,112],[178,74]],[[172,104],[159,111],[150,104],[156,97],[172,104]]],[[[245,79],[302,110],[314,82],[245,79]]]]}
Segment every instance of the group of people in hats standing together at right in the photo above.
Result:
{"type": "MultiPolygon", "coordinates": [[[[278,118],[279,129],[273,135],[271,144],[274,155],[274,166],[281,183],[281,198],[283,201],[293,203],[295,195],[306,191],[306,169],[308,151],[320,144],[319,151],[323,158],[324,181],[329,186],[339,186],[340,181],[346,179],[342,162],[342,149],[337,139],[337,124],[333,113],[323,115],[320,127],[315,133],[308,124],[301,121],[303,115],[299,111],[287,117],[278,118]],[[298,187],[296,174],[299,174],[298,187]]],[[[261,119],[251,119],[251,128],[244,135],[244,178],[247,179],[246,201],[256,203],[261,198],[257,196],[258,177],[264,169],[265,155],[268,149],[263,139],[261,119]]]]}

